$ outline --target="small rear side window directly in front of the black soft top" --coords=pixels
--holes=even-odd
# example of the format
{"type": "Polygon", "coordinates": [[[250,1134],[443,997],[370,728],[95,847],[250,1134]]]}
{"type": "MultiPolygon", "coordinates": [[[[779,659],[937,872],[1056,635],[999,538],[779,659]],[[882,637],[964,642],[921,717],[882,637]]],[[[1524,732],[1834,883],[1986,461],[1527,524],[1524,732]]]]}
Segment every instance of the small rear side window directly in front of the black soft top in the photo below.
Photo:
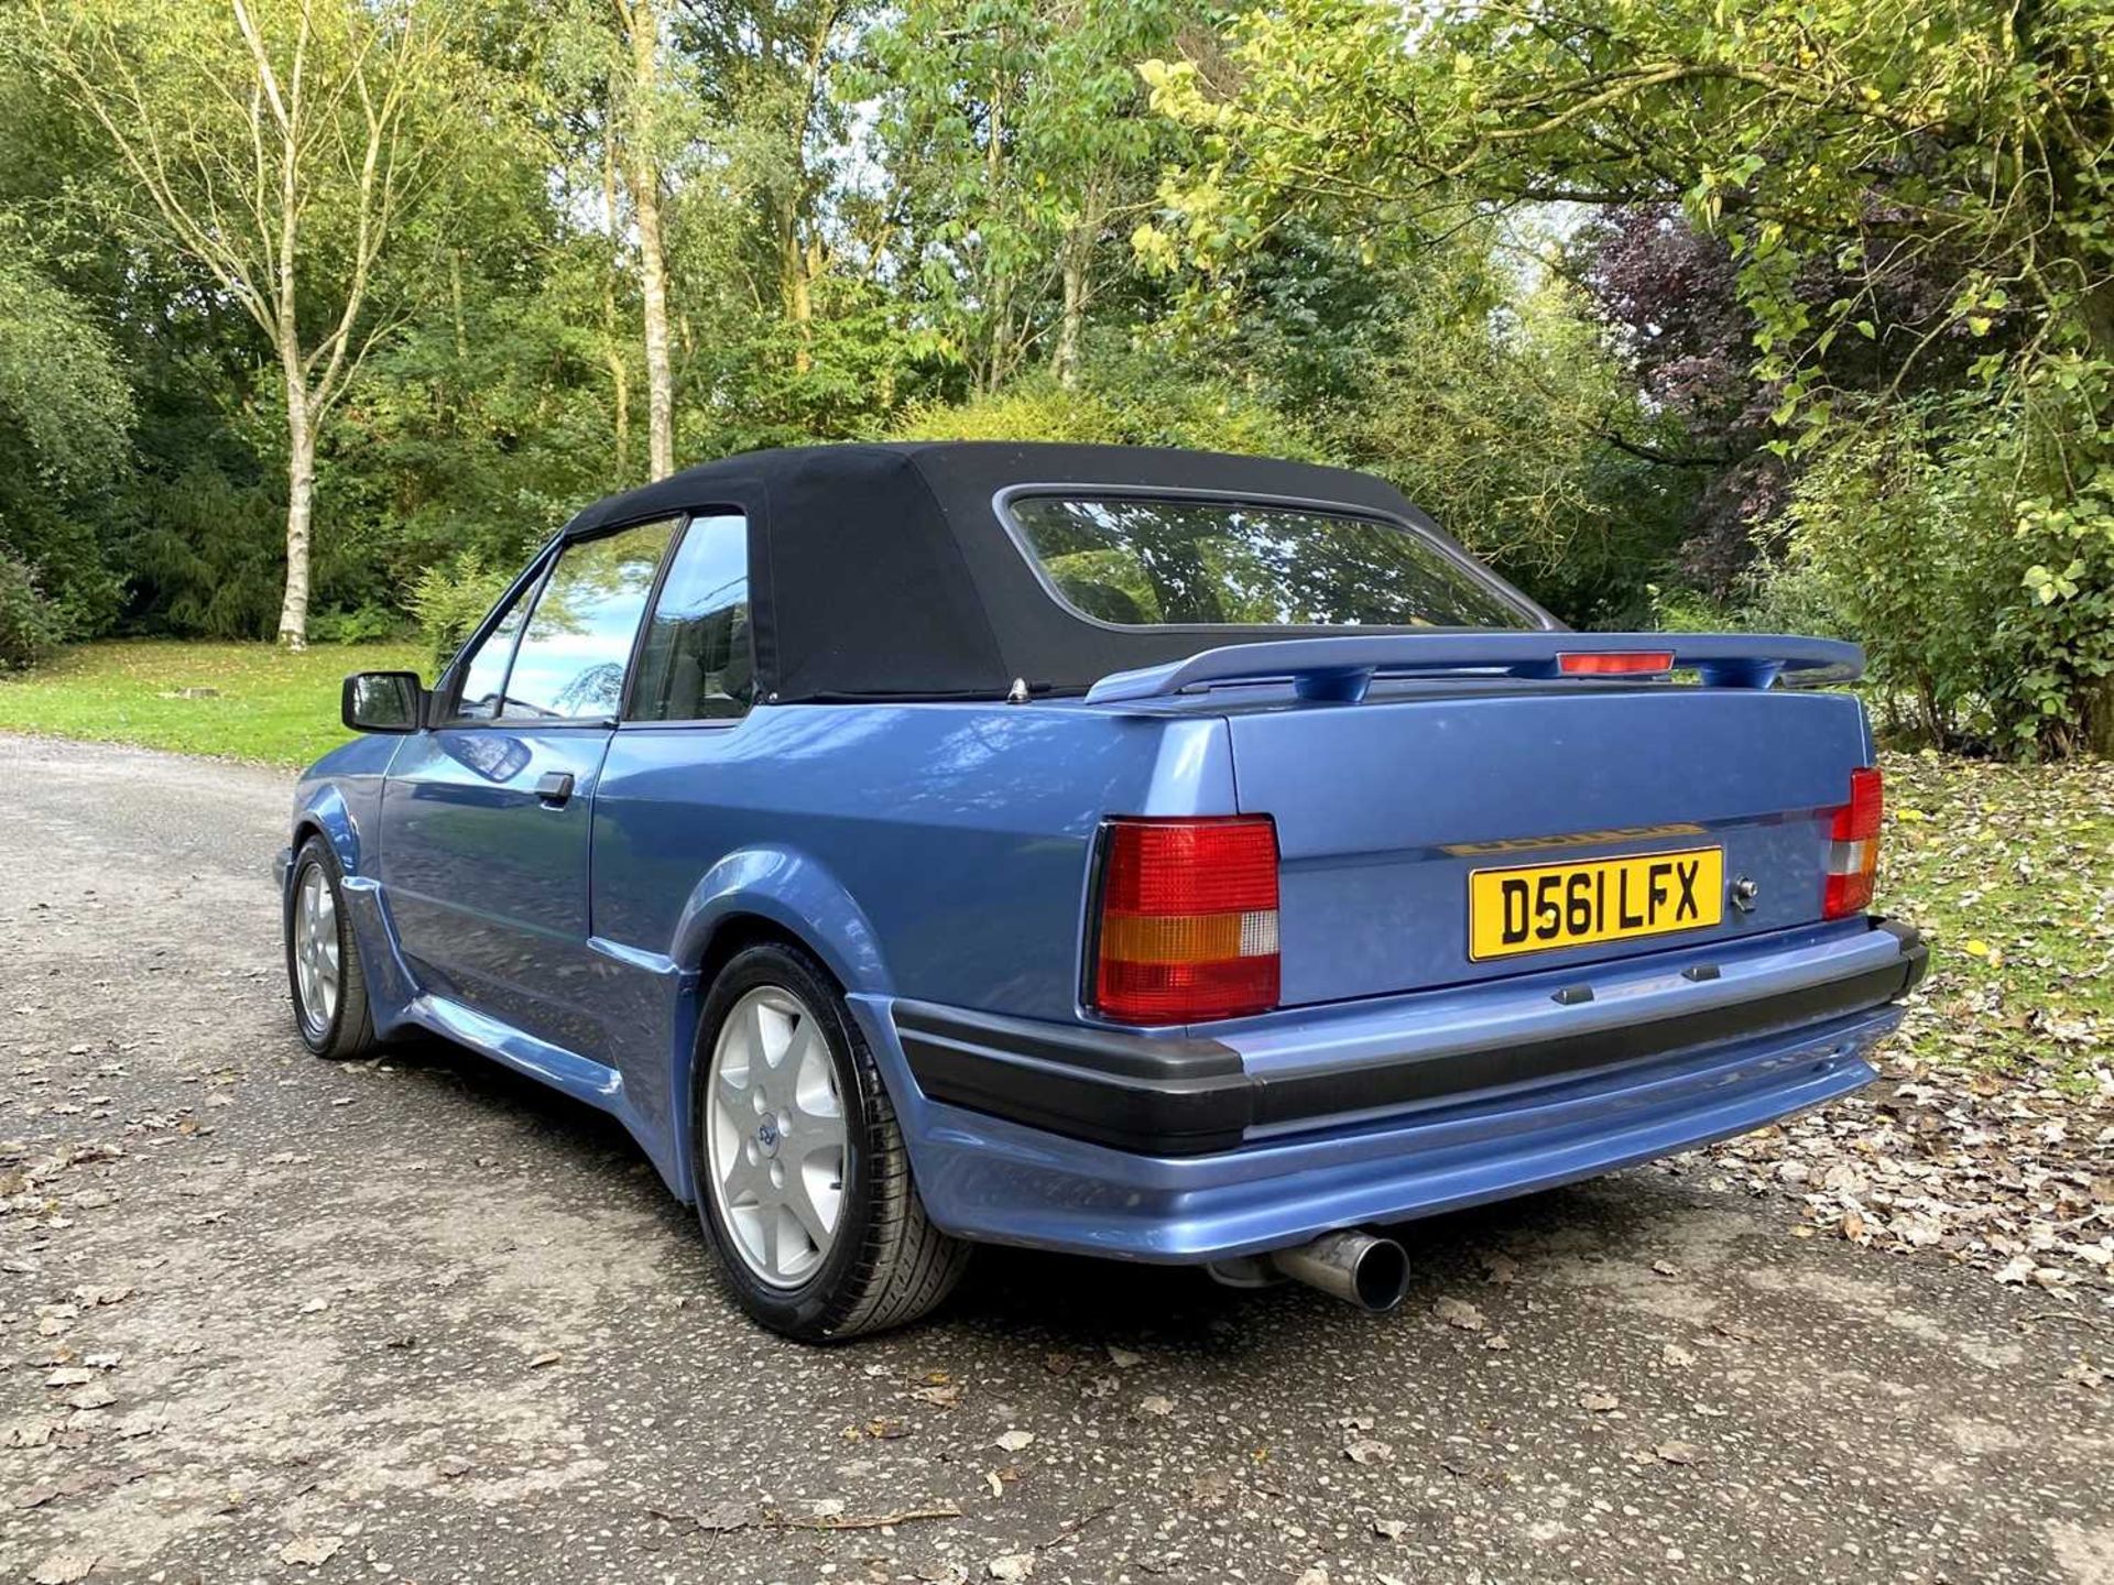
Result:
{"type": "Polygon", "coordinates": [[[698,516],[647,621],[632,721],[729,721],[753,702],[748,520],[698,516]]]}

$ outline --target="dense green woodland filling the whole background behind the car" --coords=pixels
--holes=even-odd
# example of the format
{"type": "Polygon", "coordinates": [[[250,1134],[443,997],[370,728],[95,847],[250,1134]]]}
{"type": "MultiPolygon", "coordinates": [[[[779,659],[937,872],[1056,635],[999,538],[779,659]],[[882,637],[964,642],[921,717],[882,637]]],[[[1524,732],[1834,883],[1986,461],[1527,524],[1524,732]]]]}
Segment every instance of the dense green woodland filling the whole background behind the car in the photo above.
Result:
{"type": "Polygon", "coordinates": [[[679,465],[1361,467],[1573,623],[1837,632],[1920,738],[2114,746],[2110,0],[245,15],[258,51],[186,0],[0,6],[0,554],[38,632],[275,630],[292,347],[315,634],[442,659],[645,480],[645,190],[679,465]],[[241,85],[304,17],[283,277],[241,85]],[[385,249],[355,63],[408,95],[385,249]]]}

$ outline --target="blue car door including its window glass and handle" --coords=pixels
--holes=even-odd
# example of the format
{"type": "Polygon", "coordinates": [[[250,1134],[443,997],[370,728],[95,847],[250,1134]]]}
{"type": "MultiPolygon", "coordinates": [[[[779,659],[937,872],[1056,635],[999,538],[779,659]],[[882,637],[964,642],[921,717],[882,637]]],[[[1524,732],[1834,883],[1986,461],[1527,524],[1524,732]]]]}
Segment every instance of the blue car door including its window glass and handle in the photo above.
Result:
{"type": "Polygon", "coordinates": [[[564,545],[486,623],[383,790],[383,890],[421,989],[596,1052],[588,833],[672,522],[564,545]]]}

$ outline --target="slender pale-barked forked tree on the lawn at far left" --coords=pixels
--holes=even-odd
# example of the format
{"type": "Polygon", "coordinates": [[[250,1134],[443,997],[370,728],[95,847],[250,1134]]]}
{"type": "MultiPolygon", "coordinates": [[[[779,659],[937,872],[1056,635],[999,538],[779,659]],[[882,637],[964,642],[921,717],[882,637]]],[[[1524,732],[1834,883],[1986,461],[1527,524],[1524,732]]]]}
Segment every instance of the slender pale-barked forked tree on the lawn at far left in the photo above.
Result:
{"type": "Polygon", "coordinates": [[[30,0],[53,78],[101,129],[133,218],[262,332],[285,402],[285,598],[307,642],[317,442],[370,349],[378,275],[444,173],[461,101],[425,0],[30,0]]]}

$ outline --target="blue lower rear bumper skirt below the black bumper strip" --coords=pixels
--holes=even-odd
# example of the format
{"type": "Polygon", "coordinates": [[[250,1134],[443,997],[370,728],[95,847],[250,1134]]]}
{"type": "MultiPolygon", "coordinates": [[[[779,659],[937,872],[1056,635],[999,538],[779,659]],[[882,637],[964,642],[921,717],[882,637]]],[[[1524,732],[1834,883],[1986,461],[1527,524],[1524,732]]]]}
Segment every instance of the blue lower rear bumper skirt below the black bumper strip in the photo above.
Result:
{"type": "Polygon", "coordinates": [[[1524,1095],[1467,1097],[1165,1158],[926,1101],[892,1042],[886,1004],[854,997],[854,1008],[941,1228],[1167,1264],[1501,1200],[1759,1129],[1869,1084],[1875,1071],[1865,1052],[1900,1019],[1879,1008],[1524,1095]]]}

